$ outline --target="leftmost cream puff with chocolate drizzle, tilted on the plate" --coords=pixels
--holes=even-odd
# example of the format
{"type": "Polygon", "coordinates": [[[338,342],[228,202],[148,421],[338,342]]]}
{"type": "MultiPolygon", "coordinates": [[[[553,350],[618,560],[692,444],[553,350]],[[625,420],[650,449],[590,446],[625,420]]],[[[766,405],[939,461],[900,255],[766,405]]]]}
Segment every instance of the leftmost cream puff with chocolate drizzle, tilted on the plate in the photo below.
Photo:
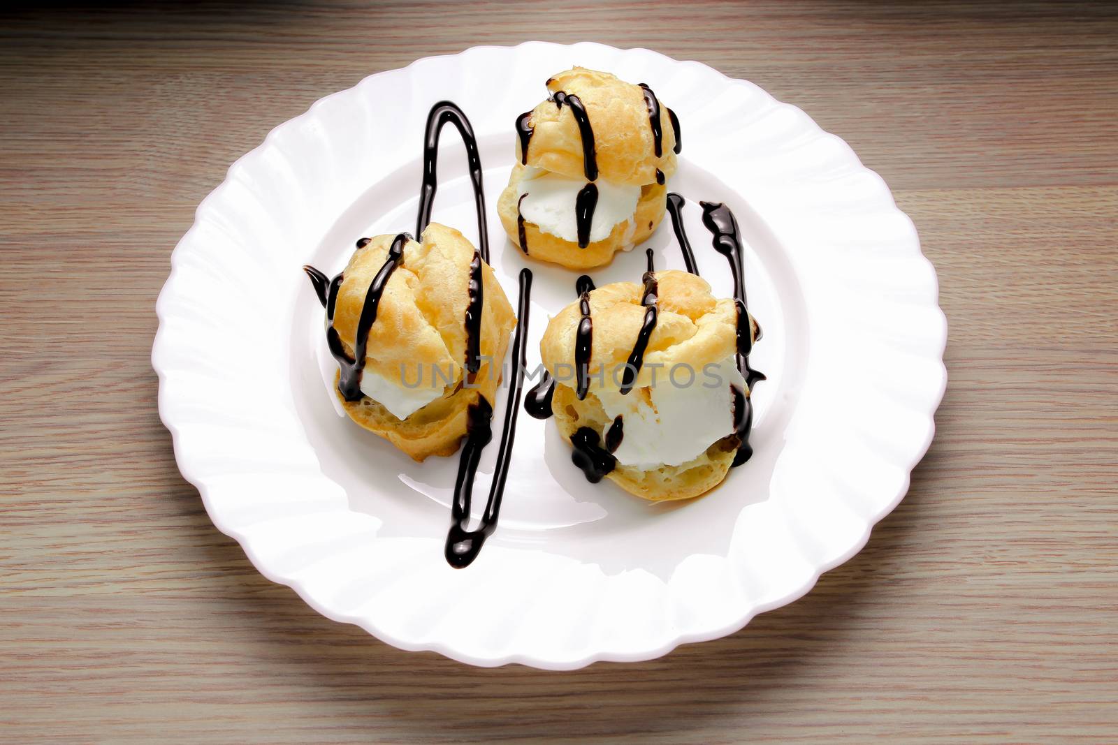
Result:
{"type": "Polygon", "coordinates": [[[383,235],[358,246],[333,280],[304,267],[326,307],[334,392],[354,422],[415,460],[448,456],[467,408],[495,398],[512,307],[453,228],[433,222],[419,241],[383,235]]]}

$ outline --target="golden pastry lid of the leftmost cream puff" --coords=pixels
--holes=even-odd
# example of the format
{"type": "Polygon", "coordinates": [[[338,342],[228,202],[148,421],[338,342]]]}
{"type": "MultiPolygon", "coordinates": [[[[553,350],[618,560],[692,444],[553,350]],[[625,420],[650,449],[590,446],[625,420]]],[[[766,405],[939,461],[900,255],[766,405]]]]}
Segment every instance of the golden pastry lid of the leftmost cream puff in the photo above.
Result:
{"type": "MultiPolygon", "coordinates": [[[[359,248],[343,271],[334,328],[352,353],[358,319],[372,278],[385,265],[395,235],[377,236],[359,248]]],[[[409,380],[417,365],[430,374],[430,365],[462,378],[466,356],[465,314],[473,245],[446,226],[432,222],[421,242],[408,240],[404,257],[392,271],[369,331],[366,366],[379,375],[400,381],[401,365],[409,380]]],[[[482,264],[483,306],[481,353],[493,355],[498,329],[508,328],[512,307],[487,264],[482,264]]],[[[508,333],[508,332],[505,332],[508,333]]]]}

